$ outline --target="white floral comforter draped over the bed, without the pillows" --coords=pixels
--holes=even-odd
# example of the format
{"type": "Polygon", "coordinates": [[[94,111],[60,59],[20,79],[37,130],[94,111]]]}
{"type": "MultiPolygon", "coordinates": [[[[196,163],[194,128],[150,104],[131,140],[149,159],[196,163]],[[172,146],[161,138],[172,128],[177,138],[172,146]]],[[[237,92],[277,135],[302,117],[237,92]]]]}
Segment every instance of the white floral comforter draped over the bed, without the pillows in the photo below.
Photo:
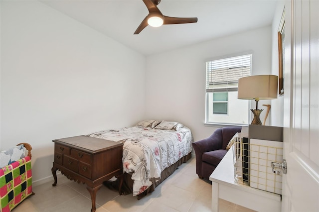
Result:
{"type": "Polygon", "coordinates": [[[152,180],[160,179],[165,168],[177,162],[192,150],[189,128],[163,130],[151,127],[125,127],[89,134],[91,137],[122,142],[123,169],[132,174],[133,196],[144,192],[152,180]]]}

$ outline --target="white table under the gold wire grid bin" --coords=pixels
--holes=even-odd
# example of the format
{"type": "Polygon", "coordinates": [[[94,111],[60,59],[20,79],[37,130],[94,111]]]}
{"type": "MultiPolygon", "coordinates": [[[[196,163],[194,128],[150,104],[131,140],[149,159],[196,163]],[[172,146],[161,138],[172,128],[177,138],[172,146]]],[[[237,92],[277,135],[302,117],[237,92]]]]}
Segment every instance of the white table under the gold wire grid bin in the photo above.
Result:
{"type": "Polygon", "coordinates": [[[280,195],[235,183],[232,148],[209,177],[212,181],[212,212],[219,211],[218,198],[258,212],[280,212],[280,195]]]}

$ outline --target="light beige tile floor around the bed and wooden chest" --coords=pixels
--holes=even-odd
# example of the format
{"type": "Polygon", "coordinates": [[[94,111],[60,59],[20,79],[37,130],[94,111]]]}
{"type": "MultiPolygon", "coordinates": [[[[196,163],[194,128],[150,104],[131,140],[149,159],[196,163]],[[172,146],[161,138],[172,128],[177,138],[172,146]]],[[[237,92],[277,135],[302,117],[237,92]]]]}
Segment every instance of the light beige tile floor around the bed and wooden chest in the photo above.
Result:
{"type": "MultiPolygon", "coordinates": [[[[120,196],[105,186],[97,192],[96,212],[210,212],[211,183],[196,175],[195,157],[182,164],[153,193],[141,200],[133,195],[120,196]]],[[[91,198],[84,184],[60,175],[52,182],[33,187],[35,195],[23,201],[13,212],[90,212],[91,198]]],[[[221,212],[252,212],[247,208],[219,200],[221,212]]]]}

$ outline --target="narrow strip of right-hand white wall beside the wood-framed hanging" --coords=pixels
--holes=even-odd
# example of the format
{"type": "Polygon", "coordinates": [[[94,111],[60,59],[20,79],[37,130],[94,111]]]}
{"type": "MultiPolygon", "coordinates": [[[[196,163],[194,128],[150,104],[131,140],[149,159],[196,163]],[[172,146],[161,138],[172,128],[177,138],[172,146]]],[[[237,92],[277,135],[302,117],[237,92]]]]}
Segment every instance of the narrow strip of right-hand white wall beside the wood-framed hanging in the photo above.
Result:
{"type": "MultiPolygon", "coordinates": [[[[278,0],[276,11],[274,14],[274,19],[272,23],[272,66],[271,73],[273,75],[279,74],[278,65],[278,27],[281,20],[281,16],[285,7],[285,1],[278,0]]],[[[272,100],[271,102],[271,120],[273,126],[283,126],[284,124],[284,97],[278,97],[277,100],[272,100]]]]}

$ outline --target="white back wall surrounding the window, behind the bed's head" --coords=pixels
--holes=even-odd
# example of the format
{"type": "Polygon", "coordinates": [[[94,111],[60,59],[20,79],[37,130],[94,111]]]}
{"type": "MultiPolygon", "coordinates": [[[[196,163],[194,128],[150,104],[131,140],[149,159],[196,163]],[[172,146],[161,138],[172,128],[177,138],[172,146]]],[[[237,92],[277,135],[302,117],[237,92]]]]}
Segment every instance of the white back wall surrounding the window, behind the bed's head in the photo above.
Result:
{"type": "MultiPolygon", "coordinates": [[[[203,124],[205,61],[241,52],[253,54],[253,75],[270,74],[271,26],[147,57],[146,116],[183,123],[192,130],[195,141],[211,135],[215,128],[203,124]]],[[[269,103],[260,101],[259,108],[269,103]]],[[[254,102],[251,107],[255,108],[254,102]]]]}

